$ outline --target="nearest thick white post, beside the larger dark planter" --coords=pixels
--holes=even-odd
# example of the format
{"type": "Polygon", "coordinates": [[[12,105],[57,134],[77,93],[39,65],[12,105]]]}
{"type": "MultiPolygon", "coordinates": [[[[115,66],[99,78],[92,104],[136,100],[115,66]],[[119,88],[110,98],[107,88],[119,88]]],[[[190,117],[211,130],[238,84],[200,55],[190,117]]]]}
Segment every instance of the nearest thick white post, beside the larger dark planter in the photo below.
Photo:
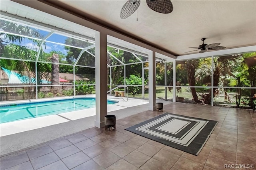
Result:
{"type": "Polygon", "coordinates": [[[95,90],[96,90],[96,117],[95,127],[104,127],[107,111],[107,34],[95,34],[95,90]]]}

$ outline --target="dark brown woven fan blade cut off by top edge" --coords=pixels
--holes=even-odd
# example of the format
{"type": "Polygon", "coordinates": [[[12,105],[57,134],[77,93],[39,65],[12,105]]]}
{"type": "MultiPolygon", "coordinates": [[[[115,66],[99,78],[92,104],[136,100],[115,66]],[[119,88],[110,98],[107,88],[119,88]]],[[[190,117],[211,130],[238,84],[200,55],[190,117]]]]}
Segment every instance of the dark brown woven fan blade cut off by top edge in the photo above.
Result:
{"type": "Polygon", "coordinates": [[[173,5],[170,0],[147,0],[147,4],[152,10],[162,14],[169,14],[173,10],[173,5]]]}

